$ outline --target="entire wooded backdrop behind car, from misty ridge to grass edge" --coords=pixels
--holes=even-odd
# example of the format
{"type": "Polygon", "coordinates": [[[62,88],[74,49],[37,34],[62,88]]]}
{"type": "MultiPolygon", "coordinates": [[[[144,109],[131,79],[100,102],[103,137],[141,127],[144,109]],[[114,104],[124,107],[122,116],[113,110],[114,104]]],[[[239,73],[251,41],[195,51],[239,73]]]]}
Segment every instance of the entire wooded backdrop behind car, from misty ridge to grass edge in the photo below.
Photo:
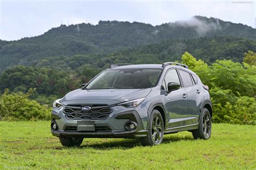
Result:
{"type": "Polygon", "coordinates": [[[0,119],[49,119],[54,100],[112,63],[179,61],[210,87],[214,122],[255,125],[255,52],[256,29],[205,17],[159,26],[62,25],[0,40],[0,119]]]}

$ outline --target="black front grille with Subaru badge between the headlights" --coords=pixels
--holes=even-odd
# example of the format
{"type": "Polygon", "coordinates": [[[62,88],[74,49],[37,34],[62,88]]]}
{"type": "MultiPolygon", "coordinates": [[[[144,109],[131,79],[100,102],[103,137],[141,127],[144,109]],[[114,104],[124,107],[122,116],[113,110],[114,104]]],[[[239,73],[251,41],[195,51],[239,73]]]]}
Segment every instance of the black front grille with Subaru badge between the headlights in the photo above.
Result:
{"type": "Polygon", "coordinates": [[[89,111],[84,111],[79,106],[66,106],[63,113],[69,120],[104,120],[109,117],[112,110],[106,106],[91,107],[89,111]]]}

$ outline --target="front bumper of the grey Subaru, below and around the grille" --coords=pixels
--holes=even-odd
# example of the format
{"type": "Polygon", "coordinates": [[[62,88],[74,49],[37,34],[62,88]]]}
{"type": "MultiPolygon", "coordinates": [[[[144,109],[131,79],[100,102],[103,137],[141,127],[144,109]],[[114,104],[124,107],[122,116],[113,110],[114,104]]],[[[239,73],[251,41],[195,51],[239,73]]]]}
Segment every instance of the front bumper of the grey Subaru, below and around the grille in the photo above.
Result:
{"type": "MultiPolygon", "coordinates": [[[[134,108],[124,108],[115,106],[111,108],[113,112],[104,120],[95,121],[96,128],[105,127],[107,130],[96,131],[77,131],[77,120],[69,120],[63,114],[64,108],[52,110],[51,119],[58,126],[57,130],[52,130],[51,133],[56,137],[84,137],[84,138],[140,138],[147,135],[145,120],[147,120],[147,108],[141,106],[134,108]],[[138,114],[140,112],[140,114],[138,114]],[[137,127],[134,130],[126,130],[126,122],[135,122],[137,127]],[[67,128],[73,128],[72,131],[67,128]]],[[[80,120],[79,120],[80,121],[80,120]]],[[[88,120],[85,120],[88,121],[88,120]]]]}

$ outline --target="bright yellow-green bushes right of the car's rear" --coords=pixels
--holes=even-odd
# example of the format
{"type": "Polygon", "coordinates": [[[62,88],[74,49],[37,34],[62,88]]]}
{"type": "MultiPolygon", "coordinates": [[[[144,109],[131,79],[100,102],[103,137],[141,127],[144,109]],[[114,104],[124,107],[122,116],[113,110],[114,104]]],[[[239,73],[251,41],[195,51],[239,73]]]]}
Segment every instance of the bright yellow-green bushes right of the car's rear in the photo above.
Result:
{"type": "Polygon", "coordinates": [[[187,52],[181,59],[210,87],[214,122],[256,125],[256,66],[231,60],[207,66],[187,52]]]}

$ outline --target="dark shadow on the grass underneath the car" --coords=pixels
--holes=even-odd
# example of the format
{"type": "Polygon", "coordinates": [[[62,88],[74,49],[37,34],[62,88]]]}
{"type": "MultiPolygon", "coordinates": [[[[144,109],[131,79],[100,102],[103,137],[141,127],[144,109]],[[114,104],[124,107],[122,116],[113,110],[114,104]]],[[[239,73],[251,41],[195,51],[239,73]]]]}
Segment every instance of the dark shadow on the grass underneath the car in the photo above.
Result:
{"type": "MultiPolygon", "coordinates": [[[[186,140],[194,140],[192,136],[165,136],[163,143],[162,144],[172,144],[176,143],[179,141],[186,141],[186,140]]],[[[111,141],[99,141],[97,143],[89,143],[89,142],[84,142],[81,146],[79,147],[73,147],[73,148],[93,148],[96,150],[112,150],[112,149],[122,149],[122,150],[127,150],[130,148],[134,148],[137,146],[142,146],[140,144],[140,141],[138,139],[123,139],[123,140],[111,140],[111,141]]],[[[62,149],[65,147],[55,147],[55,149],[62,149]]]]}

